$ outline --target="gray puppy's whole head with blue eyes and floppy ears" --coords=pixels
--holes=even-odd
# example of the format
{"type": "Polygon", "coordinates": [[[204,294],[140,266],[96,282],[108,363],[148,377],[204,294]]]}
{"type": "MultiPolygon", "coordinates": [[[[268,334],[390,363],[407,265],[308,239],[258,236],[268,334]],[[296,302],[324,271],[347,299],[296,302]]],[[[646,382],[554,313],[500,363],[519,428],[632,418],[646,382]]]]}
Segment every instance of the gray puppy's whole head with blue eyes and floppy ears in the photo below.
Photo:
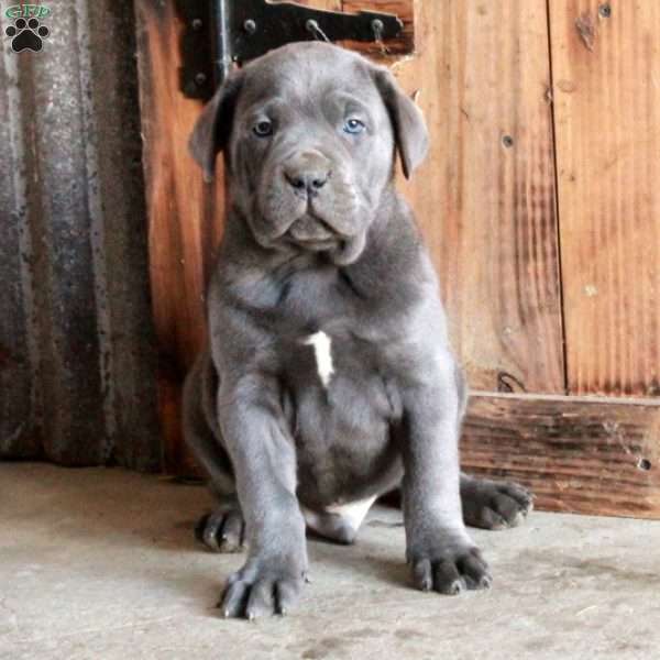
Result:
{"type": "Polygon", "coordinates": [[[395,150],[409,177],[427,147],[421,112],[387,69],[315,42],[232,74],[190,138],[207,179],[224,152],[233,204],[261,245],[337,264],[362,252],[395,150]]]}

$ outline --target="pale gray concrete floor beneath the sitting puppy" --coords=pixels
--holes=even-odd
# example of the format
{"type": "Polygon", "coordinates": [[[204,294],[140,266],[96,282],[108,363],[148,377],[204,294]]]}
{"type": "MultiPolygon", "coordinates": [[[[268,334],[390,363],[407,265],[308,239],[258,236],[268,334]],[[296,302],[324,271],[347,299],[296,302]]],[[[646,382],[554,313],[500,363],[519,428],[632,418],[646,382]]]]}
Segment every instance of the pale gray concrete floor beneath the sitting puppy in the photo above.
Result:
{"type": "Polygon", "coordinates": [[[658,658],[660,522],[534,514],[474,531],[492,591],[407,586],[397,510],[358,544],[309,541],[298,609],[223,620],[241,556],[193,540],[199,486],[120,470],[0,464],[0,658],[308,660],[658,658]]]}

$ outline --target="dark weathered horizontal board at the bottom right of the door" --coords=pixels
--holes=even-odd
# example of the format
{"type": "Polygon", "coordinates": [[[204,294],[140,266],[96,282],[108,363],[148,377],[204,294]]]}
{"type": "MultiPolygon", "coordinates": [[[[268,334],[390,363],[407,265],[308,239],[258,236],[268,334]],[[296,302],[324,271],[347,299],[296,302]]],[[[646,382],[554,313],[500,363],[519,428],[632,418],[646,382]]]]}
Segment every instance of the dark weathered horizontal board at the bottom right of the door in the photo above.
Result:
{"type": "Polygon", "coordinates": [[[471,474],[514,479],[546,510],[660,518],[660,405],[475,394],[461,443],[471,474]]]}

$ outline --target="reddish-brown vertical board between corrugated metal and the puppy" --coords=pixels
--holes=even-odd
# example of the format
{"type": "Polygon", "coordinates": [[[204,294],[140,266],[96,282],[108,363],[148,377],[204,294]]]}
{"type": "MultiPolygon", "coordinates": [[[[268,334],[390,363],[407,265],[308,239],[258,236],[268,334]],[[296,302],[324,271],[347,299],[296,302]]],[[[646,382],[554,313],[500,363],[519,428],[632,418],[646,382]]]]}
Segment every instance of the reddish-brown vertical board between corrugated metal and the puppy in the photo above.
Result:
{"type": "Polygon", "coordinates": [[[135,9],[165,468],[185,472],[191,459],[180,437],[180,389],[206,341],[204,290],[222,231],[222,168],[208,186],[188,154],[201,103],[178,90],[182,24],[174,2],[139,0],[135,9]]]}

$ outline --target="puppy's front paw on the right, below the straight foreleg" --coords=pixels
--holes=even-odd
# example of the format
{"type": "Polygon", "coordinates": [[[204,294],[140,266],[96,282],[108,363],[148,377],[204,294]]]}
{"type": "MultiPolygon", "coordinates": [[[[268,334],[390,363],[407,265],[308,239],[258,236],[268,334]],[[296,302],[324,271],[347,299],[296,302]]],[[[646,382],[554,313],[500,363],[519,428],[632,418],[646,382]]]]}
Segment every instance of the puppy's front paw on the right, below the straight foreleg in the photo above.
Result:
{"type": "Polygon", "coordinates": [[[464,541],[410,550],[408,563],[415,586],[421,591],[453,596],[468,588],[490,588],[493,582],[479,548],[464,541]]]}

